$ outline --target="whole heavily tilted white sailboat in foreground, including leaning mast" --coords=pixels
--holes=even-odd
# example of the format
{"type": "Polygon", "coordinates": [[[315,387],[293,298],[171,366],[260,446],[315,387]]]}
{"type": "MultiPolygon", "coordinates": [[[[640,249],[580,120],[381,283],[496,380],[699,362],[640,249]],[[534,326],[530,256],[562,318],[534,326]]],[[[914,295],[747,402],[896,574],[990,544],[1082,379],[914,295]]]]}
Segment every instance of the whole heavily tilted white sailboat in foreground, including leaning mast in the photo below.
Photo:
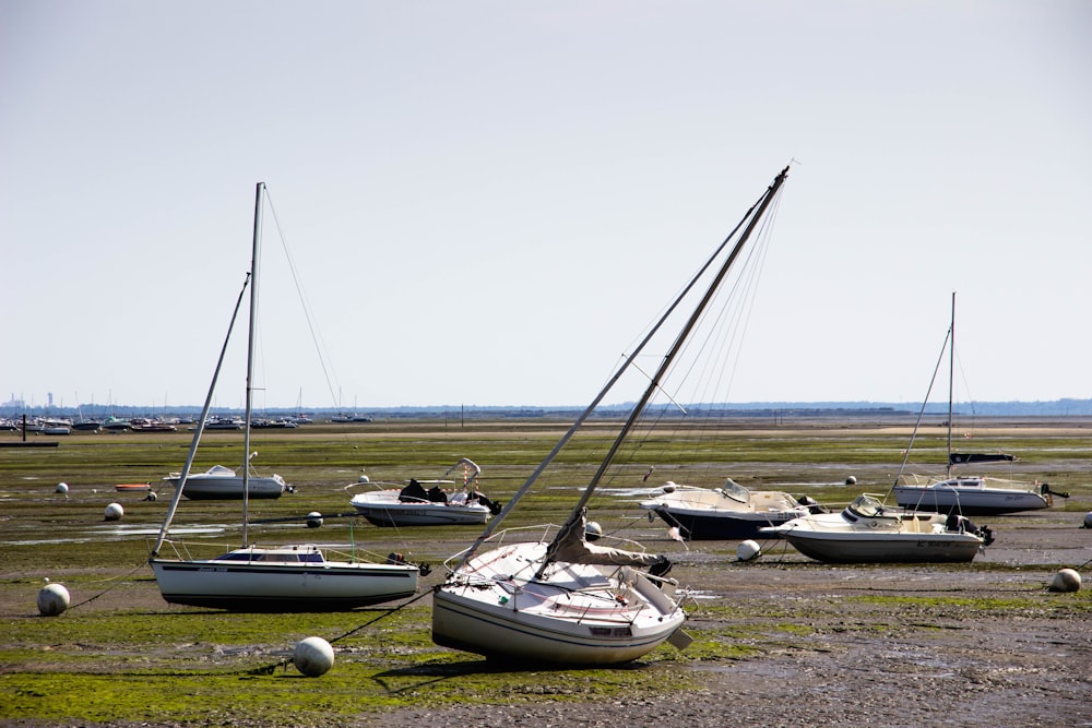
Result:
{"type": "MultiPolygon", "coordinates": [[[[663,556],[632,548],[604,546],[589,536],[587,503],[622,442],[661,385],[744,243],[755,230],[788,174],[786,167],[747,212],[739,226],[714,251],[668,306],[634,350],[625,357],[603,390],[529,476],[503,510],[465,551],[446,563],[449,573],[432,594],[432,641],[487,658],[520,663],[614,665],[638,659],[661,644],[685,648],[685,595],[666,573],[663,556]],[[737,237],[743,228],[743,232],[737,237]],[[728,244],[731,253],[721,260],[728,244]],[[700,294],[699,283],[712,276],[700,301],[686,319],[658,368],[572,512],[560,527],[544,526],[533,540],[497,532],[497,526],[537,481],[680,305],[700,294]],[[489,542],[494,548],[480,552],[489,542]],[[644,570],[648,571],[644,571],[644,570]]],[[[640,370],[639,367],[634,369],[640,370]]],[[[643,373],[643,372],[642,372],[643,373]]],[[[524,532],[526,533],[526,532],[524,532]]],[[[594,533],[594,529],[593,532],[594,533]]]]}

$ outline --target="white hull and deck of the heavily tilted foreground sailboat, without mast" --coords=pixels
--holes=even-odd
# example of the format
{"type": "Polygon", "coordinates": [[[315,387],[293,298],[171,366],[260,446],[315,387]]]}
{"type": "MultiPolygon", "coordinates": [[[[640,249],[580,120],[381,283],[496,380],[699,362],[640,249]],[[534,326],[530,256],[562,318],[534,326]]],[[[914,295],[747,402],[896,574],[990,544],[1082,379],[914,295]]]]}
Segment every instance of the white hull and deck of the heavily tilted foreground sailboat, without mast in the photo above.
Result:
{"type": "Polygon", "coordinates": [[[514,544],[459,570],[432,596],[434,642],[506,660],[614,665],[682,625],[678,604],[629,566],[562,563],[534,580],[545,550],[514,544]]]}

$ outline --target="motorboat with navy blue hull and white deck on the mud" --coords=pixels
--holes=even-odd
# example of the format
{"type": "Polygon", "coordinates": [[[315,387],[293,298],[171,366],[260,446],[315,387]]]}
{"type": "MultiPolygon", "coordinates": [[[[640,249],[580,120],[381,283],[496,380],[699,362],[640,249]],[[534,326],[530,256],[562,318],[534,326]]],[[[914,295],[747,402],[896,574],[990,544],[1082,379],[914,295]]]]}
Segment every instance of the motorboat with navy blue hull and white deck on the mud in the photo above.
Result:
{"type": "Polygon", "coordinates": [[[748,490],[732,478],[723,488],[668,481],[658,496],[640,505],[688,540],[756,538],[761,528],[821,511],[811,499],[797,500],[780,490],[748,490]]]}

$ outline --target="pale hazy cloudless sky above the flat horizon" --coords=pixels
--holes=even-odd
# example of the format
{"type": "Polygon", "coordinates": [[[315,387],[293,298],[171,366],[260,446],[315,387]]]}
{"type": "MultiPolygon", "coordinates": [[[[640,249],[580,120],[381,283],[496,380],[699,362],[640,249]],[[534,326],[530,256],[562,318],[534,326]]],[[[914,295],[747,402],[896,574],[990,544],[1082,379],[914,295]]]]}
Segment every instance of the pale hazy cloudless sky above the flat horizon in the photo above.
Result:
{"type": "Polygon", "coordinates": [[[584,405],[790,164],[732,402],[921,402],[953,291],[969,398],[1092,397],[1090,37],[1082,0],[0,0],[0,402],[200,405],[261,181],[259,406],[584,405]]]}

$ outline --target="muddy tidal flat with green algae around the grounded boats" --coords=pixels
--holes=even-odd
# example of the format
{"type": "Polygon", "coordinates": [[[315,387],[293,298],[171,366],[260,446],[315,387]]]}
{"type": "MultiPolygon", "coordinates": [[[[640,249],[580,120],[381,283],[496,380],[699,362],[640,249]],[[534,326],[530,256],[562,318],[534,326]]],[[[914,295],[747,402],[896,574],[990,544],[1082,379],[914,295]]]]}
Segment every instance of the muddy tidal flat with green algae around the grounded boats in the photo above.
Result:
{"type": "MultiPolygon", "coordinates": [[[[596,422],[506,526],[559,523],[609,442],[596,422]]],[[[976,516],[996,542],[966,564],[827,565],[780,540],[752,561],[735,541],[672,539],[637,506],[665,480],[808,494],[838,508],[885,493],[912,422],[740,419],[645,440],[592,501],[610,535],[674,563],[689,589],[685,651],[662,646],[617,668],[497,666],[432,644],[430,589],[477,527],[379,528],[345,515],[366,488],[437,478],[461,457],[507,501],[568,422],[391,421],[254,433],[253,464],[295,492],[250,504],[250,540],[318,542],[356,558],[396,551],[428,563],[412,599],[319,614],[227,613],[170,606],[146,565],[189,435],[79,434],[56,447],[0,447],[0,724],[13,726],[885,726],[1092,725],[1092,421],[980,420],[974,438],[1014,453],[999,477],[1068,492],[1043,511],[976,516]],[[712,442],[709,441],[712,437],[712,442]],[[654,474],[644,475],[650,467],[654,474]],[[853,476],[855,484],[847,485],[853,476]],[[367,482],[364,481],[367,478],[367,482]],[[57,492],[64,482],[68,493],[57,492]],[[156,500],[122,493],[149,482],[156,500]],[[106,521],[117,502],[119,521],[106,521]],[[304,516],[324,514],[320,528],[304,516]],[[298,520],[290,520],[298,518],[298,520]],[[261,523],[266,522],[266,523],[261,523]],[[1063,568],[1084,587],[1047,589],[1063,568]],[[62,583],[71,606],[38,613],[62,583]],[[334,667],[305,678],[296,642],[321,636],[334,667]]],[[[10,435],[5,435],[10,437],[10,435]]],[[[14,438],[13,438],[14,439],[14,438]]],[[[943,433],[918,434],[913,466],[943,463],[943,433]]],[[[195,470],[238,467],[241,445],[209,433],[195,470]]],[[[459,474],[453,476],[458,486],[459,474]]],[[[239,546],[237,502],[182,500],[178,535],[210,553],[239,546]]],[[[194,556],[202,553],[194,552],[194,556]]]]}

